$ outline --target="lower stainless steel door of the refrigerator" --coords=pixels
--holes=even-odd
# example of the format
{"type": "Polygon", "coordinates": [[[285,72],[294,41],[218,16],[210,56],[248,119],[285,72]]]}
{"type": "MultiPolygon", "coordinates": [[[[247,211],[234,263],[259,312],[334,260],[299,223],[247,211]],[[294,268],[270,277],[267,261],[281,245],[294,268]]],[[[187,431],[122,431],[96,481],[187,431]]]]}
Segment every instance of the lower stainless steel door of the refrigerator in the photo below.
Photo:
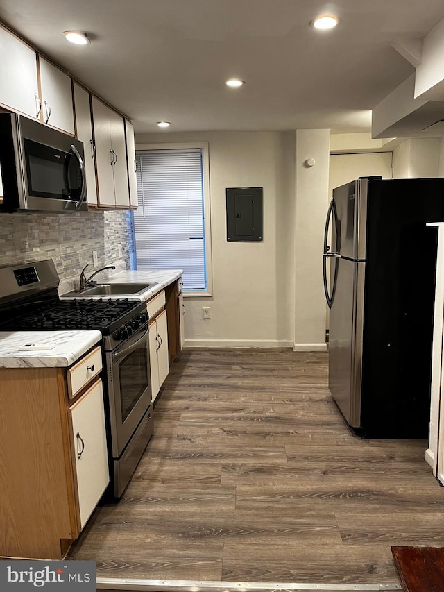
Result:
{"type": "Polygon", "coordinates": [[[361,425],[362,329],[365,263],[336,259],[330,309],[329,388],[345,420],[361,425]]]}

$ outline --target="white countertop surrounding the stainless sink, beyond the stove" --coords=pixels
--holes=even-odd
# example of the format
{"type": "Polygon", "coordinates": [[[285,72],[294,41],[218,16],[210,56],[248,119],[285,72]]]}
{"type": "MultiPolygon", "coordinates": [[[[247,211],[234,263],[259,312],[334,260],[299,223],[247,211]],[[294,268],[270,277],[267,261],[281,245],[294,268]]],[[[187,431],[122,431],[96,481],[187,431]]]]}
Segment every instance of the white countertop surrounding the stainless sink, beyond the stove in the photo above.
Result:
{"type": "MultiPolygon", "coordinates": [[[[139,283],[139,282],[146,282],[146,283],[153,283],[155,282],[156,285],[153,286],[151,289],[147,289],[146,291],[142,292],[142,294],[125,294],[122,296],[103,296],[101,294],[97,294],[96,296],[87,296],[88,298],[106,298],[106,300],[117,300],[119,298],[130,298],[131,300],[138,300],[138,301],[148,301],[150,298],[153,298],[156,294],[162,291],[164,288],[178,280],[182,276],[183,270],[182,269],[154,269],[152,271],[148,270],[126,270],[126,271],[119,271],[119,273],[113,273],[111,276],[101,278],[99,283],[101,284],[130,284],[130,283],[139,283]]],[[[65,298],[64,294],[60,294],[60,298],[65,298]]],[[[76,296],[69,296],[69,299],[76,298],[76,296]]]]}

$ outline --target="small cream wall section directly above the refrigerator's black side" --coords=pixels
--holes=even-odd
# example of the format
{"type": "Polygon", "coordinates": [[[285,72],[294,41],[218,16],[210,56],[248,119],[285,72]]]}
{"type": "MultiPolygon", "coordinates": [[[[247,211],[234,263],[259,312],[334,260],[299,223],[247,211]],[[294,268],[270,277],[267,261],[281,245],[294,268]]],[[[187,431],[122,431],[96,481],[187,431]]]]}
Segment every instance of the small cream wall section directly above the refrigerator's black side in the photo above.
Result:
{"type": "Polygon", "coordinates": [[[441,138],[407,139],[393,151],[393,178],[415,179],[443,175],[441,138]]]}

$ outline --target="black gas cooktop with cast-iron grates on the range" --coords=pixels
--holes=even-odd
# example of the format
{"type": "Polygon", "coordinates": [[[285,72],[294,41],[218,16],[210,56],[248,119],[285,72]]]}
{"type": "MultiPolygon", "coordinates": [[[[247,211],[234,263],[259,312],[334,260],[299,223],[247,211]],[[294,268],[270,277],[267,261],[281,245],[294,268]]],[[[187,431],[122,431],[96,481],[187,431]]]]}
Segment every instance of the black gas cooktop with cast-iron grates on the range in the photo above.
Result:
{"type": "MultiPolygon", "coordinates": [[[[139,301],[119,300],[55,300],[17,305],[0,313],[0,330],[96,329],[110,335],[132,318],[141,307],[139,301]]],[[[142,304],[141,310],[144,310],[142,304]]]]}

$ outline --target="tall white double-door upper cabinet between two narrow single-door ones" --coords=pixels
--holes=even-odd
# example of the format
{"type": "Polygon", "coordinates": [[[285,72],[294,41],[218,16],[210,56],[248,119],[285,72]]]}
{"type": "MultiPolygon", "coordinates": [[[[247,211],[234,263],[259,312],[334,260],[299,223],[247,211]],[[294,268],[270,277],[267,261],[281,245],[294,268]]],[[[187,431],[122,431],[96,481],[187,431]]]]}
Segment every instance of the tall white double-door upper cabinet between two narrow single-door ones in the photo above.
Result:
{"type": "Polygon", "coordinates": [[[123,117],[93,96],[92,119],[99,205],[128,208],[130,193],[123,117]]]}

